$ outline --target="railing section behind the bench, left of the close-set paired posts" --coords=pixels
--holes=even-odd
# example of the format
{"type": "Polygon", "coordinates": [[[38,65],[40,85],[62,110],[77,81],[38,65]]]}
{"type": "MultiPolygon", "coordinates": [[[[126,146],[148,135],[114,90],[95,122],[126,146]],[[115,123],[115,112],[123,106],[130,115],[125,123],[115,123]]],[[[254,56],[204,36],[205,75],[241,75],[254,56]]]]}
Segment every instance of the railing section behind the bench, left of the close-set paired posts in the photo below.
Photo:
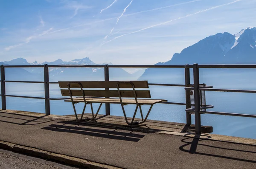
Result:
{"type": "MultiPolygon", "coordinates": [[[[58,84],[58,82],[49,82],[49,68],[104,68],[104,80],[109,81],[109,68],[184,68],[184,65],[1,65],[1,98],[2,98],[2,110],[6,110],[6,97],[19,97],[27,99],[44,99],[45,100],[45,114],[50,115],[50,100],[64,100],[70,98],[50,98],[49,97],[49,84],[58,84]],[[5,80],[5,68],[44,68],[44,82],[38,81],[14,81],[14,80],[5,80]],[[16,95],[6,95],[5,83],[38,83],[44,84],[44,97],[34,97],[34,96],[16,96],[16,95]]],[[[189,74],[187,74],[189,76],[189,74]]],[[[158,84],[158,83],[149,83],[148,85],[156,86],[176,86],[176,87],[185,87],[186,85],[177,85],[177,84],[158,84]]],[[[105,88],[105,90],[109,90],[105,88]]],[[[165,102],[164,104],[177,104],[177,105],[186,105],[186,103],[176,103],[176,102],[165,102]]],[[[110,115],[110,104],[105,104],[105,114],[110,115]]],[[[187,113],[190,116],[190,121],[187,121],[188,124],[191,124],[191,114],[187,113]]]]}

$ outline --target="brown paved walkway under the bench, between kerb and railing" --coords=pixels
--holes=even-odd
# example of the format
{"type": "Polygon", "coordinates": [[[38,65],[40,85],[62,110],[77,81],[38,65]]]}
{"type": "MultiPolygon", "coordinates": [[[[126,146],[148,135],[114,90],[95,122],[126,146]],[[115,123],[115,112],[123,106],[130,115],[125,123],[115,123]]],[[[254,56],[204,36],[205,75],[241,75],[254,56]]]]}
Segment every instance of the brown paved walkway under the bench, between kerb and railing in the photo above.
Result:
{"type": "Polygon", "coordinates": [[[179,124],[159,121],[131,129],[122,127],[122,120],[110,116],[97,123],[78,123],[73,116],[0,111],[0,141],[110,168],[256,168],[256,140],[211,134],[193,138],[177,132],[179,124]]]}

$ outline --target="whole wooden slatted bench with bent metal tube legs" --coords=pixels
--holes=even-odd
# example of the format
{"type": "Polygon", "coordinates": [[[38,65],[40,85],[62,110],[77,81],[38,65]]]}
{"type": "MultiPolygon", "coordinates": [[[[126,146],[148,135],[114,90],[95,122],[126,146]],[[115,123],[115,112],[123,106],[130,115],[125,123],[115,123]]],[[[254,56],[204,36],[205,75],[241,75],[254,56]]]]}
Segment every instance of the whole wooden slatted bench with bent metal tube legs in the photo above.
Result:
{"type": "MultiPolygon", "coordinates": [[[[90,104],[92,111],[92,118],[87,119],[95,119],[99,113],[99,110],[103,103],[113,103],[113,104],[121,104],[122,111],[125,116],[125,121],[128,125],[137,125],[145,122],[148,118],[148,115],[154,104],[160,103],[162,101],[167,100],[159,100],[159,99],[137,99],[137,98],[151,98],[149,90],[135,90],[135,88],[148,88],[148,81],[128,81],[128,82],[119,82],[119,81],[84,81],[84,82],[58,82],[61,89],[62,96],[70,96],[70,99],[65,101],[70,101],[73,104],[74,113],[76,115],[76,119],[78,121],[83,120],[84,110],[87,104],[90,104]],[[71,88],[79,88],[71,89],[71,88]],[[84,90],[83,88],[104,88],[104,90],[84,90]],[[109,90],[117,88],[117,90],[109,90]],[[121,90],[126,88],[126,90],[121,90]],[[127,90],[130,89],[130,90],[127,90]],[[131,90],[132,89],[132,90],[131,90]],[[82,97],[73,97],[73,96],[82,96],[82,97]],[[133,99],[127,99],[133,98],[133,99]],[[76,103],[84,103],[84,108],[81,114],[81,118],[79,119],[76,113],[75,104],[76,103]],[[100,103],[99,108],[94,115],[92,103],[100,103]],[[136,104],[136,108],[134,111],[133,118],[131,122],[128,122],[124,105],[127,104],[136,104]],[[141,106],[147,104],[151,105],[148,110],[148,113],[143,118],[143,113],[141,106]],[[134,121],[135,115],[137,113],[138,108],[140,109],[141,121],[134,121]]],[[[86,119],[85,119],[86,120],[86,119]]]]}

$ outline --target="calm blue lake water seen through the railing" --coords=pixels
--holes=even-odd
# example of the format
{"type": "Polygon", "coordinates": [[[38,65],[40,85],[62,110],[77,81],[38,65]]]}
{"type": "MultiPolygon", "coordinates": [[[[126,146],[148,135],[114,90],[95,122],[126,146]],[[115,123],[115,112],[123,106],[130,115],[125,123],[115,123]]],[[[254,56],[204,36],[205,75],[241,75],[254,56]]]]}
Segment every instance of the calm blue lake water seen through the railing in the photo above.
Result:
{"type": "MultiPolygon", "coordinates": [[[[218,72],[215,74],[200,72],[201,83],[213,85],[215,88],[229,88],[229,89],[250,89],[256,90],[256,73],[228,73],[218,72]]],[[[176,76],[175,76],[176,78],[176,76]]],[[[175,79],[174,78],[174,79],[175,79]]],[[[183,84],[183,78],[175,79],[176,84],[183,84]]],[[[191,81],[192,83],[192,81],[191,81]]],[[[61,97],[58,85],[50,85],[50,97],[61,97]]],[[[9,85],[6,84],[6,94],[38,96],[44,97],[44,86],[36,85],[9,85]],[[22,91],[19,91],[22,89],[22,91]],[[34,90],[37,91],[34,91],[34,90]],[[38,91],[41,90],[41,91],[38,91]]],[[[167,99],[171,102],[185,103],[184,87],[150,87],[152,99],[167,99]]],[[[214,105],[212,111],[230,112],[230,113],[245,113],[256,114],[254,105],[256,103],[256,94],[254,93],[227,93],[227,92],[206,92],[207,104],[214,105]]],[[[23,110],[31,112],[44,113],[44,100],[39,99],[23,99],[7,97],[7,109],[23,110]]],[[[78,111],[83,108],[83,104],[77,104],[78,111]]],[[[99,104],[94,104],[96,111],[99,104]]],[[[50,101],[51,114],[68,115],[73,114],[72,104],[69,102],[50,101]]],[[[125,106],[128,116],[134,112],[134,105],[125,106]]],[[[149,106],[143,106],[144,112],[148,110],[149,106]]],[[[90,107],[87,107],[86,112],[90,112],[90,107]]],[[[100,114],[105,113],[105,106],[102,105],[100,114]]],[[[139,113],[139,112],[138,112],[139,113]]],[[[111,115],[122,116],[122,109],[119,104],[111,104],[111,115]]],[[[156,104],[154,105],[149,119],[172,121],[186,123],[185,106],[172,104],[156,104]]],[[[194,115],[192,115],[194,121],[194,115]]],[[[256,118],[234,117],[225,115],[201,115],[202,125],[213,126],[213,133],[221,135],[231,135],[244,138],[256,138],[256,118]]]]}

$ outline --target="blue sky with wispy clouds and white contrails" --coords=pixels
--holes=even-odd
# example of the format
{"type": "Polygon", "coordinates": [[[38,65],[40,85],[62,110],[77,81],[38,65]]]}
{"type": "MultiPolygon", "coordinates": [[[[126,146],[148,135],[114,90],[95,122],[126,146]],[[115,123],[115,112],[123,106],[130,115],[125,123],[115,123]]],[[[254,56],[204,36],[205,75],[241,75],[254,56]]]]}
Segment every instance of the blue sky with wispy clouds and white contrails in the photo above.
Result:
{"type": "Polygon", "coordinates": [[[256,0],[0,0],[0,61],[151,65],[255,26],[256,0]]]}

